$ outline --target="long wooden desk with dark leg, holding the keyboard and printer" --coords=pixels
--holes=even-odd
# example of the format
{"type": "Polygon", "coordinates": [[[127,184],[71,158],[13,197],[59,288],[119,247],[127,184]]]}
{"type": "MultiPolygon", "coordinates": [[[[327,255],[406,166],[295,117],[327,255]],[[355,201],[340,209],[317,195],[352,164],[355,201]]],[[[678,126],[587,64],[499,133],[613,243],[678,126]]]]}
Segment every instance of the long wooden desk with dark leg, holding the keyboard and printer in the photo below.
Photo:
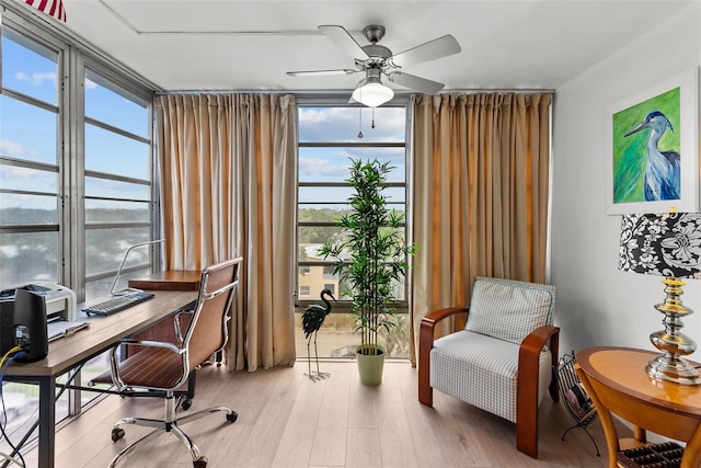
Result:
{"type": "Polygon", "coordinates": [[[195,292],[156,292],[156,297],[110,317],[90,318],[90,328],[49,343],[48,355],[36,363],[13,364],[4,379],[39,386],[39,448],[42,468],[54,467],[56,423],[56,378],[110,350],[195,300],[195,292]]]}

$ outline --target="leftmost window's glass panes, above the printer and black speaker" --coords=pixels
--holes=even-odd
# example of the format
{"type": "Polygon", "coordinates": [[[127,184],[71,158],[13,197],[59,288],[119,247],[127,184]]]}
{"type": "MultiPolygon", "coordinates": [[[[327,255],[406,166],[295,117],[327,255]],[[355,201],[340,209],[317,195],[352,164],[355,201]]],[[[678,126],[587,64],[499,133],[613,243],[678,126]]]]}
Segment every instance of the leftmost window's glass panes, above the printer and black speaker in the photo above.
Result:
{"type": "Polygon", "coordinates": [[[2,30],[0,287],[61,277],[61,53],[2,30]]]}

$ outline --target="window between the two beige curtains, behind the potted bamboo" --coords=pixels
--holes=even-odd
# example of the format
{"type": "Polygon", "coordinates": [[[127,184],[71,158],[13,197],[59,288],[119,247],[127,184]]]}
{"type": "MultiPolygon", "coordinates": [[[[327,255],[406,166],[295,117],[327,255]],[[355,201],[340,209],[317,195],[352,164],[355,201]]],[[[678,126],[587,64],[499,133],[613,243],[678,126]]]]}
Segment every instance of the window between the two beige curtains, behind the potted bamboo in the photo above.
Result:
{"type": "MultiPolygon", "coordinates": [[[[342,357],[353,355],[354,322],[349,304],[342,296],[344,285],[333,275],[332,260],[318,255],[326,238],[338,233],[337,219],[348,213],[352,193],[346,179],[350,159],[390,161],[386,194],[388,205],[406,213],[406,112],[404,107],[299,107],[299,174],[298,174],[298,312],[319,303],[323,288],[334,292],[338,303],[319,332],[319,355],[342,357]],[[360,137],[361,133],[361,137],[360,137]],[[344,304],[345,303],[345,304],[344,304]]],[[[406,282],[395,285],[398,303],[397,327],[384,334],[390,356],[407,355],[406,282]],[[401,313],[404,312],[404,313],[401,313]]],[[[299,317],[298,317],[299,318],[299,317]]],[[[297,327],[297,354],[307,354],[307,341],[297,327]]]]}

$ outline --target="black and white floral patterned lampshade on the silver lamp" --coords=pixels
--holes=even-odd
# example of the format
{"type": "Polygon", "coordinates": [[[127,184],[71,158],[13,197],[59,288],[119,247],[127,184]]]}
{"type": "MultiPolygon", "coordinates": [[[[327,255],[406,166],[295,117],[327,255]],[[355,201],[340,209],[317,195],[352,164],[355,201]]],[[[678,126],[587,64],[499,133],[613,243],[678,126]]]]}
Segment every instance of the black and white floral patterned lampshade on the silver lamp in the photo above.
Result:
{"type": "Polygon", "coordinates": [[[618,267],[701,279],[701,214],[624,215],[618,267]]]}

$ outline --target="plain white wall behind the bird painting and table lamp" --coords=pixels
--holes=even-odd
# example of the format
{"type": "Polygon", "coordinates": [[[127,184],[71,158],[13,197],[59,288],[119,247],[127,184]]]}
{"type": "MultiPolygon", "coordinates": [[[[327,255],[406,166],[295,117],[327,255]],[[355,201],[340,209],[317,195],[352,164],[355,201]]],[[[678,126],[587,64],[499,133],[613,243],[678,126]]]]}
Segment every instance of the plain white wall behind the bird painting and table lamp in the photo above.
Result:
{"type": "MultiPolygon", "coordinates": [[[[550,279],[561,354],[596,345],[654,350],[648,335],[663,329],[653,308],[664,299],[662,277],[618,270],[621,217],[606,215],[606,107],[698,67],[700,26],[694,2],[555,92],[550,279]]],[[[701,281],[689,279],[682,299],[697,312],[682,331],[701,344],[701,281]]],[[[692,358],[701,361],[701,351],[692,358]]]]}

